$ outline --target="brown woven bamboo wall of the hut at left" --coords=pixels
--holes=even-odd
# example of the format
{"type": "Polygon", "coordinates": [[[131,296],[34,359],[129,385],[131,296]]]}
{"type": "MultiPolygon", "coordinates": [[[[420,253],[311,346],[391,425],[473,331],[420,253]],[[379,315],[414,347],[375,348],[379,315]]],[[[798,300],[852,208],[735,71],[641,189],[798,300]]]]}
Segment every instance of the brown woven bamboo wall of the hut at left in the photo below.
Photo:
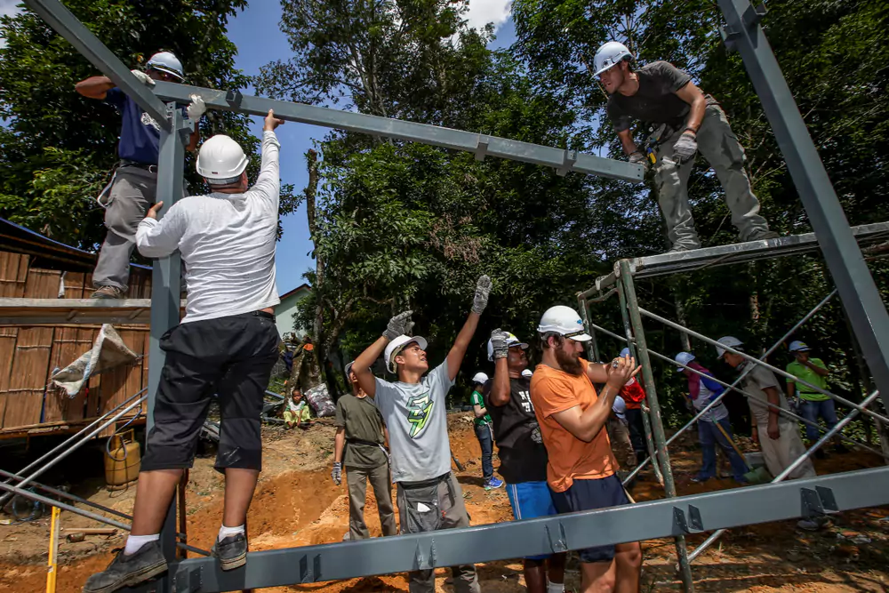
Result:
{"type": "MultiPolygon", "coordinates": [[[[28,255],[0,252],[0,297],[84,299],[92,275],[31,268],[28,255]]],[[[128,296],[148,299],[151,277],[132,268],[128,296]]],[[[74,398],[49,386],[57,368],[92,348],[99,325],[0,327],[0,437],[41,433],[83,424],[148,386],[148,325],[115,327],[124,343],[143,355],[135,365],[94,376],[74,398]]]]}

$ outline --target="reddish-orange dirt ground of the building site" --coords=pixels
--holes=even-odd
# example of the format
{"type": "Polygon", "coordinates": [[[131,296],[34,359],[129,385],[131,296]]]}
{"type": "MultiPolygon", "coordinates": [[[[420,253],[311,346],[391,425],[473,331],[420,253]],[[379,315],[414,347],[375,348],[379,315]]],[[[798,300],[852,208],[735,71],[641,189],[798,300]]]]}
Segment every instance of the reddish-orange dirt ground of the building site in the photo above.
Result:
{"type": "MultiPolygon", "coordinates": [[[[503,490],[485,492],[482,487],[480,451],[468,415],[449,418],[453,452],[466,465],[458,472],[467,507],[474,525],[511,518],[509,501],[503,490]]],[[[253,498],[248,529],[252,550],[276,549],[340,541],[348,531],[348,500],[345,486],[336,486],[329,475],[333,428],[329,422],[316,423],[306,431],[266,428],[264,471],[253,498]]],[[[749,448],[749,443],[742,446],[749,448]]],[[[693,485],[700,453],[690,439],[679,439],[671,448],[677,489],[680,494],[702,493],[733,487],[730,480],[710,480],[693,485]]],[[[869,453],[833,455],[819,461],[820,474],[875,467],[876,456],[869,453]]],[[[496,466],[496,463],[495,463],[496,466]]],[[[109,494],[100,480],[76,485],[75,492],[115,509],[131,512],[133,489],[109,494]]],[[[212,457],[198,459],[188,482],[188,541],[207,549],[220,525],[222,480],[212,470],[212,457]]],[[[650,476],[632,490],[637,501],[663,497],[661,486],[650,476]]],[[[372,493],[368,494],[367,522],[374,536],[380,535],[380,521],[372,493]]],[[[98,526],[82,517],[63,513],[62,523],[70,526],[98,526]]],[[[46,548],[49,522],[40,519],[27,524],[0,526],[0,592],[45,589],[46,548]]],[[[693,548],[704,536],[689,538],[693,548]]],[[[88,536],[81,543],[60,544],[60,572],[57,591],[80,591],[86,577],[104,568],[111,549],[123,545],[124,537],[88,536]]],[[[645,591],[678,590],[673,573],[676,563],[671,540],[645,541],[645,591]]],[[[485,592],[525,590],[520,562],[491,562],[478,565],[485,592]]],[[[806,591],[812,593],[846,591],[885,591],[889,587],[889,509],[862,509],[837,517],[833,527],[819,533],[797,530],[795,522],[751,525],[726,533],[693,566],[698,591],[806,591]],[[864,542],[866,538],[869,542],[864,542]],[[855,543],[854,541],[859,541],[855,543]]],[[[437,573],[436,589],[451,590],[446,569],[437,573]]],[[[566,586],[579,585],[575,563],[569,564],[566,586]]],[[[403,574],[292,585],[269,592],[284,593],[364,593],[406,591],[403,574]]]]}

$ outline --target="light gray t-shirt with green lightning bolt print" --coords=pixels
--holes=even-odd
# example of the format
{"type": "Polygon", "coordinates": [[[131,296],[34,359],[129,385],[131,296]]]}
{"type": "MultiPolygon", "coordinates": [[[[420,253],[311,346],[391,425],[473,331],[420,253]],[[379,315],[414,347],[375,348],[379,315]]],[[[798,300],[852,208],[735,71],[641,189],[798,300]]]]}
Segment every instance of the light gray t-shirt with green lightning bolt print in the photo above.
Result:
{"type": "Polygon", "coordinates": [[[389,431],[393,482],[422,482],[451,471],[445,396],[453,386],[447,359],[419,383],[377,378],[376,397],[389,431]]]}

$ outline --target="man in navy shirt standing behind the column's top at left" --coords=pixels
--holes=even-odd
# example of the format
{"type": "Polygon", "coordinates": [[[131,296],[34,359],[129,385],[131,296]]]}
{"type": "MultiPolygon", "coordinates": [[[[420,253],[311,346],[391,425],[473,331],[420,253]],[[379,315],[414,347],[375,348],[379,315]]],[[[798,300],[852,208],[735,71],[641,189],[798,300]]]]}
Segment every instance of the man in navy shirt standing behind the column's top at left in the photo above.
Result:
{"type": "MultiPolygon", "coordinates": [[[[148,86],[154,85],[156,80],[173,83],[185,80],[182,63],[172,52],[157,52],[148,60],[144,72],[135,69],[132,74],[148,86]]],[[[130,278],[136,228],[156,201],[160,124],[117,88],[108,76],[86,78],[76,84],[75,90],[89,99],[108,103],[122,117],[117,143],[120,161],[109,187],[100,196],[100,202],[105,206],[108,233],[92,272],[92,284],[96,289],[92,292],[93,299],[122,299],[130,278]]],[[[187,108],[188,118],[195,123],[188,142],[189,151],[197,147],[197,122],[205,111],[204,100],[193,95],[187,108]]]]}

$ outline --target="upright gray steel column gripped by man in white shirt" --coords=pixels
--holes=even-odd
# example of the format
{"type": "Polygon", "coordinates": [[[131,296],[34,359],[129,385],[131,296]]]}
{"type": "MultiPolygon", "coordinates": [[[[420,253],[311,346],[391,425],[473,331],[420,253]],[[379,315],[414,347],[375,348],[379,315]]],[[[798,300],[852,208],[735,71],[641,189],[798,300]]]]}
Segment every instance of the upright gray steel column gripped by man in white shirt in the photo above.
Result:
{"type": "MultiPolygon", "coordinates": [[[[182,132],[188,132],[180,109],[171,103],[167,112],[172,123],[172,132],[161,130],[160,154],[157,160],[156,201],[164,202],[164,211],[182,196],[182,173],[185,164],[185,143],[182,132]]],[[[160,348],[161,337],[180,319],[180,255],[173,253],[168,258],[155,260],[151,275],[151,333],[148,341],[148,415],[147,429],[154,426],[155,398],[157,386],[164,368],[164,350],[160,348]]],[[[170,505],[164,527],[161,529],[161,549],[167,562],[176,558],[176,505],[170,505]]],[[[172,590],[169,575],[158,580],[158,591],[172,590]]]]}

